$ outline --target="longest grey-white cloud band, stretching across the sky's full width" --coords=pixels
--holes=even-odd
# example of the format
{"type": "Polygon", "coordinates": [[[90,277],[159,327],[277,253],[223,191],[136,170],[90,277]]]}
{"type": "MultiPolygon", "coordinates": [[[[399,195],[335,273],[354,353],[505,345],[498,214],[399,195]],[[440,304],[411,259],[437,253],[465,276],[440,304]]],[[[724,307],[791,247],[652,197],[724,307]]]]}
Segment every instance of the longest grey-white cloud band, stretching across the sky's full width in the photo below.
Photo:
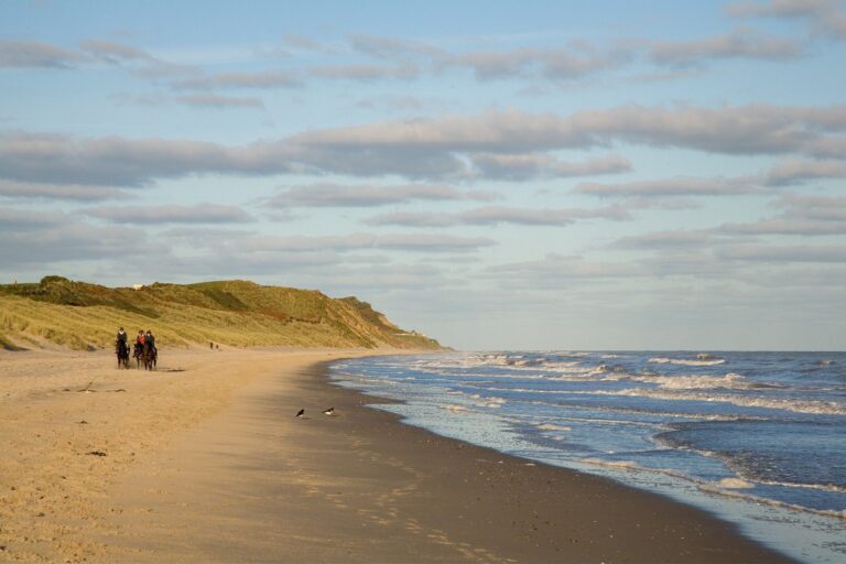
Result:
{"type": "MultiPolygon", "coordinates": [[[[479,153],[536,155],[614,143],[675,147],[723,154],[802,153],[818,152],[821,143],[828,143],[829,149],[843,144],[844,131],[846,106],[748,105],[724,108],[625,106],[583,110],[570,116],[496,111],[475,117],[313,130],[237,147],[156,138],[79,139],[7,132],[0,133],[0,176],[11,181],[112,186],[137,186],[159,178],[209,173],[334,173],[460,180],[471,176],[466,161],[479,153]]],[[[529,167],[538,165],[531,159],[528,163],[529,167]]],[[[521,164],[525,166],[527,162],[521,164]]],[[[568,167],[557,164],[564,171],[568,167]]],[[[610,164],[611,167],[622,165],[621,162],[610,164]]],[[[547,165],[554,171],[556,163],[549,161],[547,165]]],[[[673,183],[675,186],[646,184],[592,189],[683,193],[685,184],[692,193],[728,194],[751,189],[735,181],[673,183]]]]}

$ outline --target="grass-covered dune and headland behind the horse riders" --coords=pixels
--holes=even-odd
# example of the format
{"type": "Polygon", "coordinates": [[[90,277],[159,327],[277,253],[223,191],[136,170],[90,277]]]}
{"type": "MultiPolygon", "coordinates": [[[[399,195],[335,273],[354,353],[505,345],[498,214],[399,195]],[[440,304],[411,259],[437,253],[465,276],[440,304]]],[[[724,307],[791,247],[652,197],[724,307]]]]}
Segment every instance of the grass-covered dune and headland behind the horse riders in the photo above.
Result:
{"type": "Polygon", "coordinates": [[[0,284],[0,348],[111,348],[119,326],[130,337],[152,329],[160,346],[440,348],[366,302],[314,290],[241,280],[106,288],[62,276],[0,284]]]}

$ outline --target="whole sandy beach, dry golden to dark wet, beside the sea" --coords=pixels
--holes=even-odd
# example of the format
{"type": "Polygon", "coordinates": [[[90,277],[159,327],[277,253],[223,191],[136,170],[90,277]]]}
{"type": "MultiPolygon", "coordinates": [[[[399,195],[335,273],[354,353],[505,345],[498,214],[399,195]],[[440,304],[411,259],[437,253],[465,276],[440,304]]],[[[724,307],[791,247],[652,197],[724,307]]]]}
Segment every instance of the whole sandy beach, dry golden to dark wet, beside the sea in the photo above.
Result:
{"type": "Polygon", "coordinates": [[[366,408],[325,371],[365,354],[188,349],[155,372],[0,354],[0,560],[788,561],[702,511],[366,408]]]}

